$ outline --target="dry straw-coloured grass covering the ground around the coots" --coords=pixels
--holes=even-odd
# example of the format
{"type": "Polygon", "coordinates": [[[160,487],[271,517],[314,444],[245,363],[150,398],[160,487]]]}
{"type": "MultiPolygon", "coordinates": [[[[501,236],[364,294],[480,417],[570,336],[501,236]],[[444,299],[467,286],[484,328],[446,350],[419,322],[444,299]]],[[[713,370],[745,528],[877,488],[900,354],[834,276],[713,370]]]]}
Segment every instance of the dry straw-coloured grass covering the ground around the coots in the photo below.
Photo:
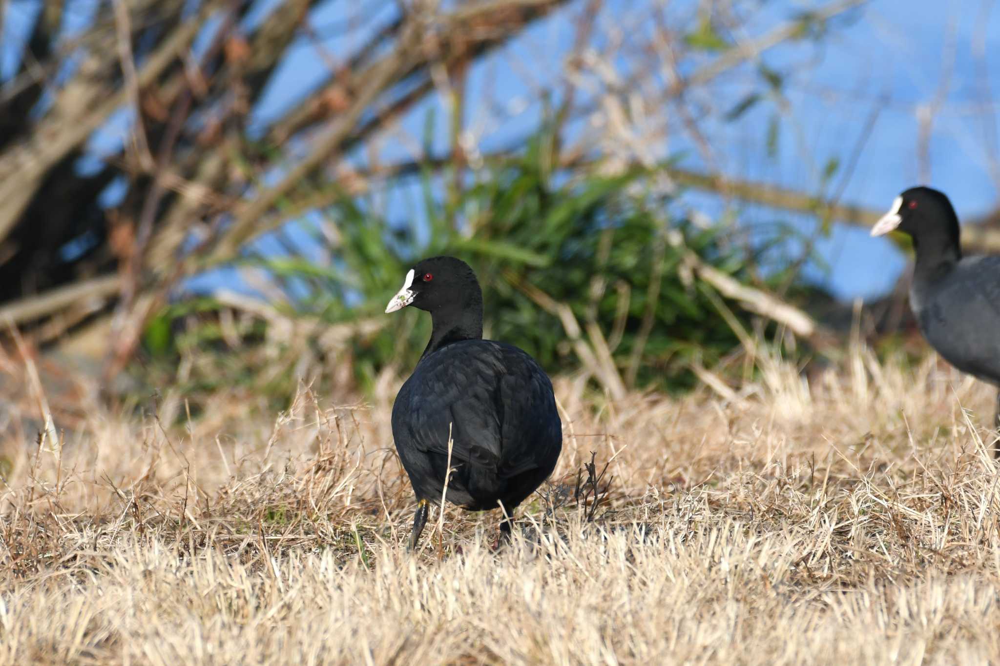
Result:
{"type": "Polygon", "coordinates": [[[187,425],[169,395],[160,418],[94,405],[61,444],[0,449],[0,662],[1000,660],[990,389],[863,350],[809,383],[766,368],[676,400],[557,380],[562,459],[513,544],[448,507],[415,557],[395,377],[277,418],[240,394],[187,425]]]}

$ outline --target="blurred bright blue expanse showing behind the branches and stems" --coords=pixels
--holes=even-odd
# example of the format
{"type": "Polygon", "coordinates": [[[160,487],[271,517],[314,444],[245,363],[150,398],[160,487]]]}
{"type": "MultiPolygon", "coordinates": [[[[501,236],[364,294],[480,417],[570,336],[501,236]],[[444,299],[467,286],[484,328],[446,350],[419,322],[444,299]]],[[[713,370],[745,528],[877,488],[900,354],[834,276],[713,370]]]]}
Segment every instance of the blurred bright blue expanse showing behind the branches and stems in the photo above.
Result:
{"type": "MultiPolygon", "coordinates": [[[[616,28],[646,30],[648,26],[629,25],[627,17],[655,1],[610,0],[598,23],[597,45],[601,46],[600,40],[616,28]]],[[[248,22],[266,20],[275,2],[260,0],[248,22]]],[[[93,0],[70,0],[70,4],[74,11],[68,14],[66,28],[79,30],[92,15],[93,0]]],[[[762,3],[753,8],[745,26],[746,35],[738,37],[759,35],[797,12],[822,4],[826,3],[762,3]]],[[[939,95],[942,77],[947,76],[949,86],[940,98],[930,135],[927,184],[951,197],[960,218],[989,211],[997,203],[997,184],[991,177],[989,159],[997,149],[993,139],[997,120],[991,113],[984,113],[983,100],[992,99],[993,91],[1000,91],[1000,9],[984,10],[989,4],[974,0],[870,2],[838,19],[819,48],[796,43],[764,54],[762,60],[769,68],[791,74],[784,87],[785,97],[780,105],[771,100],[759,103],[735,122],[723,121],[718,112],[732,108],[748,92],[761,90],[760,80],[753,76],[752,68],[721,77],[703,93],[703,103],[716,110],[702,121],[713,159],[727,176],[810,194],[842,191],[843,202],[886,208],[898,192],[919,180],[918,115],[921,107],[930,105],[939,95]],[[985,79],[976,60],[979,43],[986,54],[985,79]],[[982,85],[984,80],[988,81],[988,90],[982,85]],[[879,111],[874,129],[868,133],[866,127],[876,107],[879,111]],[[781,118],[781,132],[771,155],[768,127],[775,114],[781,118]],[[856,166],[843,180],[847,171],[844,165],[855,153],[856,166]],[[838,160],[842,166],[824,189],[821,174],[830,160],[838,160]]],[[[36,7],[31,0],[13,0],[9,5],[5,34],[0,37],[0,80],[9,77],[17,57],[16,36],[23,33],[36,7]]],[[[571,20],[579,7],[579,2],[571,3],[567,10],[537,23],[471,72],[471,104],[466,119],[476,131],[482,150],[516,144],[537,127],[541,113],[538,91],[561,88],[562,65],[573,37],[571,20]]],[[[669,13],[690,17],[697,7],[694,0],[674,0],[669,3],[669,13]]],[[[357,8],[354,3],[328,0],[312,12],[313,29],[326,37],[319,47],[306,37],[293,46],[254,110],[255,128],[264,129],[270,120],[294,107],[303,95],[322,83],[327,76],[325,62],[331,56],[336,59],[350,54],[371,30],[392,18],[395,3],[366,3],[366,16],[374,16],[366,22],[357,21],[357,8]],[[326,53],[320,53],[320,48],[326,53]]],[[[705,54],[704,61],[714,57],[705,54]]],[[[615,62],[624,64],[624,58],[615,62]]],[[[432,97],[402,120],[402,132],[419,138],[426,113],[432,107],[439,108],[436,118],[443,128],[446,114],[432,97]]],[[[670,113],[670,108],[664,108],[663,113],[670,113]]],[[[129,119],[128,113],[119,114],[114,123],[92,139],[95,157],[119,145],[129,119]]],[[[585,129],[583,124],[580,127],[581,131],[585,129]]],[[[444,134],[437,133],[442,137],[444,134]]],[[[669,142],[657,148],[662,148],[664,157],[683,156],[682,166],[706,167],[683,133],[672,133],[669,142]]],[[[383,159],[415,157],[408,146],[397,141],[386,142],[381,153],[383,159]]],[[[359,154],[353,159],[364,157],[359,154]]],[[[411,209],[405,202],[405,197],[390,198],[386,214],[408,215],[411,209]]],[[[710,218],[723,212],[716,198],[700,193],[685,194],[682,205],[710,218]]],[[[787,222],[807,236],[815,236],[815,222],[806,216],[746,204],[740,204],[736,214],[743,225],[787,222]]],[[[265,250],[270,245],[267,239],[261,241],[265,250]]],[[[870,239],[861,229],[837,225],[829,236],[817,237],[816,248],[826,268],[809,266],[808,278],[842,299],[884,293],[905,266],[905,259],[887,241],[870,239]]],[[[232,279],[231,272],[222,272],[195,285],[211,287],[232,279]]]]}

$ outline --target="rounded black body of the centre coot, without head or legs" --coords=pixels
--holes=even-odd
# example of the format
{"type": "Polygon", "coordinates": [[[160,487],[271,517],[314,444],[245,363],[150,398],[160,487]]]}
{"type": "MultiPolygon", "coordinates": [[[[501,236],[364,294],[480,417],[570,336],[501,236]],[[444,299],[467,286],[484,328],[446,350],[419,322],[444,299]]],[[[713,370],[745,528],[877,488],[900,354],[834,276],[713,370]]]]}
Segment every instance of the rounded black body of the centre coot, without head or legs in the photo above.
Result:
{"type": "Polygon", "coordinates": [[[438,499],[452,439],[446,498],[509,512],[552,472],[561,424],[552,384],[521,349],[452,342],[424,356],[396,396],[392,434],[418,499],[438,499]]]}

